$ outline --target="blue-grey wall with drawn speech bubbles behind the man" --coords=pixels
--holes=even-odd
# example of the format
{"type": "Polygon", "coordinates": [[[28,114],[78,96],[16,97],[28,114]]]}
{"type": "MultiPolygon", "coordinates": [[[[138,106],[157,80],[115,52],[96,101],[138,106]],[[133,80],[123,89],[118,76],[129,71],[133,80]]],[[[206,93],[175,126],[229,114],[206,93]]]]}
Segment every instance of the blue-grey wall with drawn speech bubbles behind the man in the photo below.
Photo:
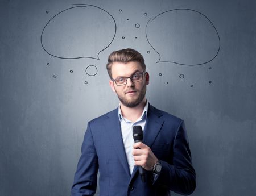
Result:
{"type": "Polygon", "coordinates": [[[148,101],[185,120],[192,195],[255,195],[255,4],[1,0],[0,195],[70,194],[86,123],[118,105],[106,59],[128,47],[148,101]]]}

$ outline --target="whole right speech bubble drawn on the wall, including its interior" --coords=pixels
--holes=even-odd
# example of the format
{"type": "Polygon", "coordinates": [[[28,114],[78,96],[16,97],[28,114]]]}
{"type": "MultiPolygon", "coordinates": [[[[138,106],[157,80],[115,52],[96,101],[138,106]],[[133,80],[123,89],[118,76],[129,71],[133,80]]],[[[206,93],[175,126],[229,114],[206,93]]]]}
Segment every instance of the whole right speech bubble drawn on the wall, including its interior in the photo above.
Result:
{"type": "Polygon", "coordinates": [[[146,39],[159,55],[156,63],[202,65],[220,51],[220,36],[213,23],[204,14],[190,9],[168,10],[150,18],[146,39]]]}

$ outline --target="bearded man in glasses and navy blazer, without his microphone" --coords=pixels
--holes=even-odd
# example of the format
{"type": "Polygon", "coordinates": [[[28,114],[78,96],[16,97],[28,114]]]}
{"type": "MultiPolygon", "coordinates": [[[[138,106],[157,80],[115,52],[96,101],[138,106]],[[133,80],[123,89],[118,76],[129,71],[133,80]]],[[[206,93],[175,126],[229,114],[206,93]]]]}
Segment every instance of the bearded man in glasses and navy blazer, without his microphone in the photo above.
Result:
{"type": "Polygon", "coordinates": [[[119,107],[88,123],[72,196],[94,195],[98,171],[102,196],[191,194],[196,176],[183,120],[147,102],[149,74],[142,55],[114,51],[106,67],[119,107]],[[135,125],[142,126],[144,139],[134,144],[135,125]]]}

